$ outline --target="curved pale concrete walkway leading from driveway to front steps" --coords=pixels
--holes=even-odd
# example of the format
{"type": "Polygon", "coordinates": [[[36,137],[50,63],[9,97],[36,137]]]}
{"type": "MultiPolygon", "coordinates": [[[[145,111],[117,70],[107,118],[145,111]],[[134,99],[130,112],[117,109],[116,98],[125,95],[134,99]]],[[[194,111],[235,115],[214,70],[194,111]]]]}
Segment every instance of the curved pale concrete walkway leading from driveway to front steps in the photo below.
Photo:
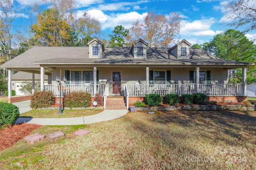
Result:
{"type": "MultiPolygon", "coordinates": [[[[13,103],[20,108],[20,113],[31,110],[30,100],[24,102],[13,103]]],[[[71,117],[71,118],[18,118],[16,124],[31,123],[38,125],[82,125],[97,123],[101,121],[108,121],[122,117],[128,113],[127,109],[123,110],[104,110],[96,115],[84,116],[84,117],[71,117]]]]}

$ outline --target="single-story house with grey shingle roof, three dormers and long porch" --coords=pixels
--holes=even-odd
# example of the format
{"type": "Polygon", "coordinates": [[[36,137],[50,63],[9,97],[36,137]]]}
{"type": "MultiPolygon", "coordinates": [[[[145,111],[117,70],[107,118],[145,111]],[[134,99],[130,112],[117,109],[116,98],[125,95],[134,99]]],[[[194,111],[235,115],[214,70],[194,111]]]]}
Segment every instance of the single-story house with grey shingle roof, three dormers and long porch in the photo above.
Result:
{"type": "MultiPolygon", "coordinates": [[[[59,96],[56,76],[62,82],[63,94],[75,90],[105,96],[123,96],[129,100],[156,93],[204,93],[209,100],[234,101],[246,98],[246,67],[253,63],[223,60],[203,49],[190,48],[182,40],[172,48],[148,48],[142,39],[132,47],[104,47],[98,39],[88,47],[33,47],[2,64],[9,70],[40,74],[41,90],[59,96]],[[228,70],[242,68],[242,84],[228,83],[228,70]],[[44,75],[48,84],[44,84],[44,75]]],[[[11,94],[8,96],[11,98],[11,94]]],[[[127,106],[128,107],[128,106],[127,106]]]]}

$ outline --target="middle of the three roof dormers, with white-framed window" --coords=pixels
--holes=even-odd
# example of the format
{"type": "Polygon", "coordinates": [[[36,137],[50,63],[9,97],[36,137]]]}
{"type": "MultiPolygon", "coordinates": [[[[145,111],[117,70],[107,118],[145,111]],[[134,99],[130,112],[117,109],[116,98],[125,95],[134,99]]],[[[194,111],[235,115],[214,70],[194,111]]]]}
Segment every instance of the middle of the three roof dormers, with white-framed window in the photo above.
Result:
{"type": "Polygon", "coordinates": [[[132,56],[134,57],[134,59],[146,59],[147,46],[148,46],[148,43],[146,43],[142,39],[139,39],[138,41],[132,44],[130,53],[132,53],[132,56]]]}

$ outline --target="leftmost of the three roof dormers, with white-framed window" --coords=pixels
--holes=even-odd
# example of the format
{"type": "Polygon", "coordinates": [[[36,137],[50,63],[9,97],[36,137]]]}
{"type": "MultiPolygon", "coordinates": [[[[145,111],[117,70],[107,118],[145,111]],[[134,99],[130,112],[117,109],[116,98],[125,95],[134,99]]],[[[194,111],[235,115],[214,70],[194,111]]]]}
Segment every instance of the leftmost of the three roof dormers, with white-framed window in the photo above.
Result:
{"type": "Polygon", "coordinates": [[[101,41],[94,38],[92,41],[88,42],[89,45],[89,58],[101,59],[102,53],[105,50],[104,45],[101,41]]]}

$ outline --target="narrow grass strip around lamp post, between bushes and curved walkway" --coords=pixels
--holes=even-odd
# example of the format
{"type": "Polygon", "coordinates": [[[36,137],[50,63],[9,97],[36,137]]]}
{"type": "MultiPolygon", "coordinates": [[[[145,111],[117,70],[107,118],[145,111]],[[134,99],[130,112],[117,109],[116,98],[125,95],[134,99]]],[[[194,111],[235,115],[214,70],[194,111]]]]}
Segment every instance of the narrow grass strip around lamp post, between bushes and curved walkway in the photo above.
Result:
{"type": "Polygon", "coordinates": [[[25,113],[20,114],[20,117],[33,117],[33,118],[64,118],[64,117],[83,117],[94,115],[102,112],[103,110],[94,109],[67,109],[63,110],[62,114],[58,114],[58,109],[32,109],[25,113]]]}

